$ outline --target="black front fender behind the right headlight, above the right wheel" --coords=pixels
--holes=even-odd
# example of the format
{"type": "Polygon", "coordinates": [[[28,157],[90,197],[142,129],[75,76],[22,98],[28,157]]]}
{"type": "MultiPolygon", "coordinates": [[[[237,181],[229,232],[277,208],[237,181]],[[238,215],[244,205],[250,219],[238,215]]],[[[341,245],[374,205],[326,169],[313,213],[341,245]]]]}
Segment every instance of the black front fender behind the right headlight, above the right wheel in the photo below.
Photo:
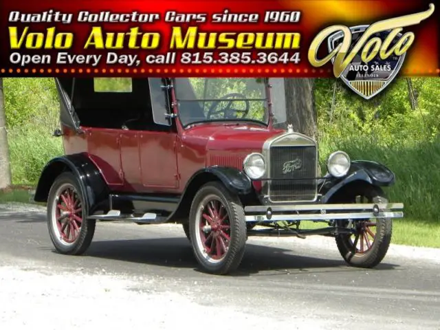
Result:
{"type": "Polygon", "coordinates": [[[322,203],[349,184],[371,184],[372,186],[392,186],[395,183],[395,174],[383,164],[369,160],[353,160],[349,173],[342,179],[329,177],[329,181],[322,186],[322,203]]]}

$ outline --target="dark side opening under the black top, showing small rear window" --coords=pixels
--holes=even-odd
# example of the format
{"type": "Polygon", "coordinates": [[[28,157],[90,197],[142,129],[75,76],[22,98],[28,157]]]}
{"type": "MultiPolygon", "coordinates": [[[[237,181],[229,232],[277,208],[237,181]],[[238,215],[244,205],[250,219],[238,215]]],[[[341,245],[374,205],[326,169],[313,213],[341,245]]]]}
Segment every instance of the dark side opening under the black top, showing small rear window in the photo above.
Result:
{"type": "MultiPolygon", "coordinates": [[[[81,126],[137,131],[169,129],[169,124],[164,121],[164,118],[169,120],[165,115],[169,111],[168,94],[162,88],[164,83],[160,78],[71,80],[69,83],[74,85],[74,93],[69,101],[72,102],[81,126]],[[151,97],[151,93],[155,99],[151,97]],[[162,119],[159,118],[161,115],[162,119]]],[[[65,86],[68,85],[67,83],[65,86]]]]}

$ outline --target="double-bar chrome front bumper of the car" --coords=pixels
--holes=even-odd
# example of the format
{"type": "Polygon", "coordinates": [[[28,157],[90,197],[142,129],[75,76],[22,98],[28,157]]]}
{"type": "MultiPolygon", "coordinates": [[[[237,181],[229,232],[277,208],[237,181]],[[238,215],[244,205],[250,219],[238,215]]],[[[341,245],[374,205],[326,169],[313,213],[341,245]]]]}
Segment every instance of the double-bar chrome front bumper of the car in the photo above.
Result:
{"type": "Polygon", "coordinates": [[[310,204],[287,206],[246,206],[249,222],[324,221],[338,219],[401,218],[403,203],[310,204]]]}

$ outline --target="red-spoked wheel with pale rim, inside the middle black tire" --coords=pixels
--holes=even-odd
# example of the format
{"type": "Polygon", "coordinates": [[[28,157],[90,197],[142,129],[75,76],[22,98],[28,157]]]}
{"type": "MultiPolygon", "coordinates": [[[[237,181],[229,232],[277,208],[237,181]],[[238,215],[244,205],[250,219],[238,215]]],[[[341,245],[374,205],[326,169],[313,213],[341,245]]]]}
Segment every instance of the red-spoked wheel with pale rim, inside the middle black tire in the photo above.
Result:
{"type": "Polygon", "coordinates": [[[195,225],[199,251],[211,263],[222,261],[228,252],[231,234],[228,211],[219,197],[210,195],[201,201],[195,225]]]}

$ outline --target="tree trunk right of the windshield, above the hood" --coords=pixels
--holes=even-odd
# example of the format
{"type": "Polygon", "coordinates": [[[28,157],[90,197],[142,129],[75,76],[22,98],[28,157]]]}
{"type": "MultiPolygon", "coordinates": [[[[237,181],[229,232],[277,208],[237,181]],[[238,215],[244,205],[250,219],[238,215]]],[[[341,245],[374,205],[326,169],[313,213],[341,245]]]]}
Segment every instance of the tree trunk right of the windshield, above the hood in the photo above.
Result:
{"type": "Polygon", "coordinates": [[[294,131],[318,140],[313,78],[285,78],[287,124],[294,131]]]}

